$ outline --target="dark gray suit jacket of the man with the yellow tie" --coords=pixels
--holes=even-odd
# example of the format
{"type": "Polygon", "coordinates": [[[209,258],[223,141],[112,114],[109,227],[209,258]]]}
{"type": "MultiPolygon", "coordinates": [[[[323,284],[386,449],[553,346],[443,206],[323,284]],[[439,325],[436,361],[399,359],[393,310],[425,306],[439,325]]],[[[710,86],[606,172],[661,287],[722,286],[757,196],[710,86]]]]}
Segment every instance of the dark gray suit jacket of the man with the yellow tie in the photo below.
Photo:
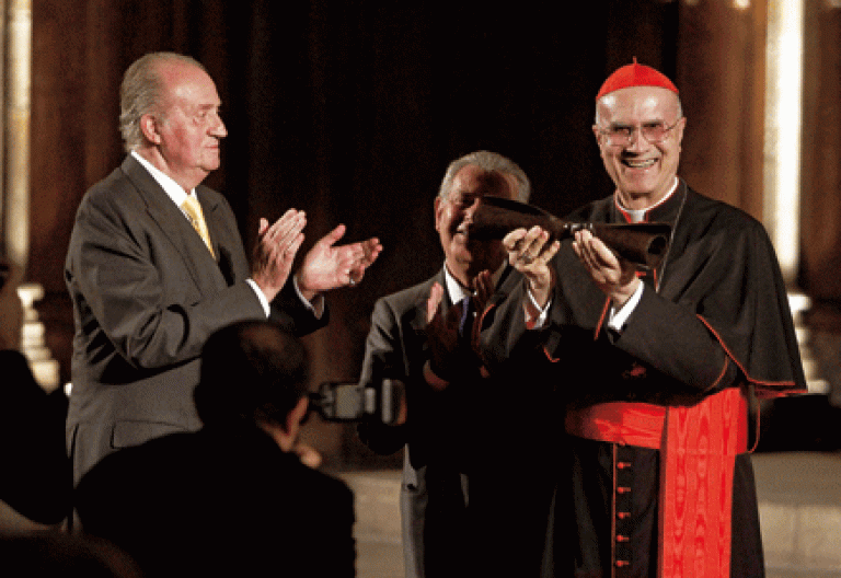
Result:
{"type": "MultiPolygon", "coordinates": [[[[131,155],[83,197],[65,278],[76,334],[67,423],[74,482],[105,454],[197,430],[193,406],[207,337],[264,319],[230,206],[196,189],[218,263],[183,213],[131,155]]],[[[272,317],[298,334],[326,323],[291,282],[272,317]]]]}

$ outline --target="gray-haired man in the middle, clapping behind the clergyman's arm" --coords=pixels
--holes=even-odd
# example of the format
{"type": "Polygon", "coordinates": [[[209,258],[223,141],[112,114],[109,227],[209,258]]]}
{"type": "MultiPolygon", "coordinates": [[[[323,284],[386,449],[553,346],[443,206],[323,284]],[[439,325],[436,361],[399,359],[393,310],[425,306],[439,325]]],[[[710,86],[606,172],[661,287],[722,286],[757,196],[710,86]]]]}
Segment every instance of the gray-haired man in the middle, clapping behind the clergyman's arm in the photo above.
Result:
{"type": "Polygon", "coordinates": [[[483,377],[473,332],[465,327],[506,287],[521,282],[506,267],[499,241],[468,236],[473,213],[485,196],[526,201],[529,193],[523,171],[497,153],[479,151],[453,161],[435,199],[443,268],[375,305],[361,381],[404,382],[406,414],[398,426],[364,423],[359,434],[379,453],[404,448],[407,578],[538,570],[539,520],[549,508],[549,486],[541,485],[545,478],[531,459],[537,435],[520,419],[531,415],[532,400],[511,381],[483,377]],[[526,519],[530,523],[521,523],[526,519]]]}

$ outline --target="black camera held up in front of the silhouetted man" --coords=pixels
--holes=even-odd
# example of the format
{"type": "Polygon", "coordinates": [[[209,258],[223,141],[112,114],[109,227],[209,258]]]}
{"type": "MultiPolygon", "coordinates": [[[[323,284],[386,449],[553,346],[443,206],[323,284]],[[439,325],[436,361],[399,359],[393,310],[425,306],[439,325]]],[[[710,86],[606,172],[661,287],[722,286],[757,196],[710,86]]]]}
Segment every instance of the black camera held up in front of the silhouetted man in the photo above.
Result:
{"type": "Polygon", "coordinates": [[[375,385],[325,381],[310,393],[310,404],[329,421],[371,418],[390,426],[400,417],[404,394],[399,380],[383,379],[375,385]]]}

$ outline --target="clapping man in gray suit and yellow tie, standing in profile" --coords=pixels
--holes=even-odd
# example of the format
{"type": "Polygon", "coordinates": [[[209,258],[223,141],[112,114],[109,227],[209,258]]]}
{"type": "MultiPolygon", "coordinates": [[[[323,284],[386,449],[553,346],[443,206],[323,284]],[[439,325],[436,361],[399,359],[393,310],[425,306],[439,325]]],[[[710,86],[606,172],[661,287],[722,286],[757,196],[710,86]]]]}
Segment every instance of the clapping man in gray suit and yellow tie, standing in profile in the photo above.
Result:
{"type": "Polygon", "coordinates": [[[123,79],[129,154],[82,199],[65,273],[74,483],[112,451],[199,428],[191,393],[214,331],[268,317],[312,332],[326,323],[322,293],[359,281],[381,250],[376,239],[334,246],[338,226],[290,276],[306,216],[289,209],[261,219],[250,266],[230,206],[200,184],[227,135],[219,105],[212,79],[181,55],[146,55],[123,79]]]}

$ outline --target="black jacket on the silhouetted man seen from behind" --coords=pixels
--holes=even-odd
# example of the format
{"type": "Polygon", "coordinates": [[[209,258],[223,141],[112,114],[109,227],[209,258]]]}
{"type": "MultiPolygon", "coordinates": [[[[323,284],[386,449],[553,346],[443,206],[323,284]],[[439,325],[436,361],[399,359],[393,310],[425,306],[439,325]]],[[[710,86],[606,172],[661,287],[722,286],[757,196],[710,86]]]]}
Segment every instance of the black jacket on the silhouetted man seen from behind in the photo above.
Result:
{"type": "Polygon", "coordinates": [[[117,545],[149,578],[355,575],[350,489],[253,426],[118,451],[74,497],[85,533],[117,545]]]}

